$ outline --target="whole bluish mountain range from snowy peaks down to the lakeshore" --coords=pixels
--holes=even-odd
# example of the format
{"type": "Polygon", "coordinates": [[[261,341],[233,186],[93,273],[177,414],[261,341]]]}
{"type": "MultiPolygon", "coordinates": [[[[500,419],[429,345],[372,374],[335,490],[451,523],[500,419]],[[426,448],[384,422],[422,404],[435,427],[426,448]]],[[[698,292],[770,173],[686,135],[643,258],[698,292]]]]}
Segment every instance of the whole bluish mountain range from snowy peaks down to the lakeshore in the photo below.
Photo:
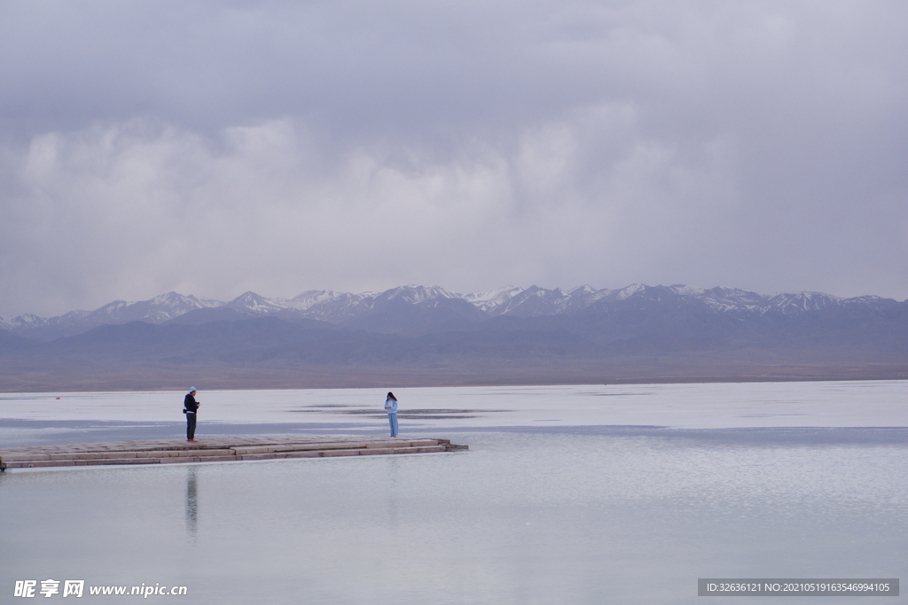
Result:
{"type": "Polygon", "coordinates": [[[0,327],[7,391],[908,377],[908,301],[814,292],[169,292],[0,327]]]}

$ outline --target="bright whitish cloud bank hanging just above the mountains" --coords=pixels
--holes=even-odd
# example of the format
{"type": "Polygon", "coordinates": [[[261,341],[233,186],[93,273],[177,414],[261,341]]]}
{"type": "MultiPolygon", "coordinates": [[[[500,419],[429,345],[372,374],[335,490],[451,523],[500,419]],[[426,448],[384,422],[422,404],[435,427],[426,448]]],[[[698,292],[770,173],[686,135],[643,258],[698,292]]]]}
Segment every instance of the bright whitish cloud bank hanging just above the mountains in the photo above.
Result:
{"type": "Polygon", "coordinates": [[[585,166],[577,156],[599,127],[588,114],[528,130],[513,154],[405,167],[367,150],[326,165],[288,120],[213,141],[144,121],[44,134],[15,162],[4,302],[52,313],[168,289],[232,298],[623,277],[668,253],[679,208],[711,210],[715,179],[655,142],[625,141],[585,166]]]}

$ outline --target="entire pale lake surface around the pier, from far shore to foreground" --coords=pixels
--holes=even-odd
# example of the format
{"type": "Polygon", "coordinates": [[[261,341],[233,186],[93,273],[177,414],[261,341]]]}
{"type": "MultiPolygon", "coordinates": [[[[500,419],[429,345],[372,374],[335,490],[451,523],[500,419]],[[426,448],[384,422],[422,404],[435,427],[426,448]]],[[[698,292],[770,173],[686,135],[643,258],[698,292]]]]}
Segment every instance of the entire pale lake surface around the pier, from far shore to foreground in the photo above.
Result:
{"type": "MultiPolygon", "coordinates": [[[[8,472],[0,602],[29,579],[187,587],[153,601],[422,605],[694,603],[697,578],[904,578],[906,386],[409,389],[401,434],[469,452],[8,472]]],[[[380,434],[381,395],[200,393],[200,438],[380,434]]],[[[0,437],[178,436],[174,397],[0,395],[0,437]]]]}

